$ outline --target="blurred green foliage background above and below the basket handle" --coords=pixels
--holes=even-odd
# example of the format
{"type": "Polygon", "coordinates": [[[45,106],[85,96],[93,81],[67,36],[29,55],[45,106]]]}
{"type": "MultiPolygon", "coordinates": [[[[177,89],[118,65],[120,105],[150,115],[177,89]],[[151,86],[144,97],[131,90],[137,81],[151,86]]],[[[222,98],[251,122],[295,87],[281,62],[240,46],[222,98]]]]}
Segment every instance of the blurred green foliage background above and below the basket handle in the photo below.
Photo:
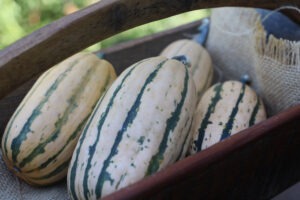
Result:
{"type": "MultiPolygon", "coordinates": [[[[54,20],[97,2],[96,0],[0,0],[0,49],[54,20]]],[[[199,20],[209,10],[199,10],[136,27],[88,48],[99,50],[126,40],[199,20]]]]}

